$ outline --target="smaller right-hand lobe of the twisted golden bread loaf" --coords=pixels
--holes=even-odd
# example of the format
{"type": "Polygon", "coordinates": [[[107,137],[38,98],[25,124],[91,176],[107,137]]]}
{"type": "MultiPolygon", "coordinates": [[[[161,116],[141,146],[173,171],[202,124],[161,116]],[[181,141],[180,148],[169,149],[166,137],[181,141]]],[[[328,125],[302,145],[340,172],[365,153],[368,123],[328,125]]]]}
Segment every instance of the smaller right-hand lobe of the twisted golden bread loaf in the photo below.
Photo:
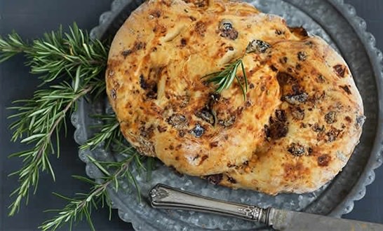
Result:
{"type": "Polygon", "coordinates": [[[224,174],[220,184],[272,195],[311,192],[340,172],[358,144],[362,100],[347,64],[321,38],[276,43],[270,55],[283,101],[276,110],[283,116],[271,120],[282,118],[288,132],[273,137],[276,127],[266,125],[262,148],[248,165],[224,174]]]}

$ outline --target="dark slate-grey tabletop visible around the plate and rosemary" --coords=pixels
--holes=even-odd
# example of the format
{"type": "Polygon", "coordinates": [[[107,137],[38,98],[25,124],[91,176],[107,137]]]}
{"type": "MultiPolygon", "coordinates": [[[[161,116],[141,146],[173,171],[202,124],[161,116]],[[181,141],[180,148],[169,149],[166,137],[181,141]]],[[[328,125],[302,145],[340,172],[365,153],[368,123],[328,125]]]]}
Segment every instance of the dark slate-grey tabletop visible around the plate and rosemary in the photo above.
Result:
{"type": "MultiPolygon", "coordinates": [[[[267,1],[267,0],[265,0],[267,1]]],[[[79,27],[91,29],[98,24],[100,14],[109,10],[112,0],[0,0],[0,34],[6,35],[13,29],[22,38],[35,38],[44,31],[64,27],[76,21],[79,27]]],[[[383,0],[345,0],[356,7],[358,15],[367,21],[368,30],[377,38],[377,46],[383,50],[383,0]]],[[[8,205],[11,200],[8,195],[18,186],[15,177],[7,175],[20,168],[20,160],[8,159],[7,155],[22,151],[25,146],[11,143],[11,132],[7,120],[11,112],[7,106],[15,99],[25,99],[32,96],[39,80],[28,73],[24,66],[25,59],[17,56],[4,64],[0,64],[0,229],[1,230],[37,230],[42,221],[51,218],[53,214],[43,213],[45,209],[57,209],[65,202],[51,194],[52,191],[72,196],[75,192],[86,192],[88,185],[71,178],[71,175],[85,174],[84,164],[77,156],[77,145],[72,139],[73,127],[69,125],[68,137],[62,137],[62,153],[60,160],[52,158],[55,166],[56,182],[51,176],[42,174],[37,195],[30,197],[27,207],[22,207],[19,214],[8,217],[8,205]]],[[[376,180],[368,186],[365,197],[356,202],[354,210],[344,216],[362,221],[383,223],[383,168],[377,169],[376,180]]],[[[132,230],[131,225],[119,220],[116,211],[112,221],[108,220],[107,209],[93,213],[97,230],[132,230]]],[[[63,229],[67,230],[67,228],[63,229]]],[[[76,230],[88,230],[86,222],[76,226],[76,230]]]]}

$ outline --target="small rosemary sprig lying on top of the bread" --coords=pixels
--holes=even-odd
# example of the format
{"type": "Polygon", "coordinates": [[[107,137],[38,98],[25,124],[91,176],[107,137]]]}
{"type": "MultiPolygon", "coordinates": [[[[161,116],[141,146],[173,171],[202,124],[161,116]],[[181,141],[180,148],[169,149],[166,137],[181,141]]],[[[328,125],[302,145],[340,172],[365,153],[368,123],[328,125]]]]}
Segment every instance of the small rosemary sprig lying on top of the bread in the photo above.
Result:
{"type": "Polygon", "coordinates": [[[227,64],[222,71],[217,71],[210,73],[203,78],[208,78],[207,83],[213,83],[217,86],[215,92],[220,93],[223,90],[228,89],[231,84],[234,82],[234,79],[237,80],[239,87],[241,87],[241,92],[243,94],[243,100],[246,101],[246,92],[248,92],[248,78],[246,76],[245,67],[243,66],[242,59],[236,59],[236,61],[227,64]],[[237,76],[238,69],[241,68],[243,73],[244,83],[241,83],[241,80],[237,76]]]}

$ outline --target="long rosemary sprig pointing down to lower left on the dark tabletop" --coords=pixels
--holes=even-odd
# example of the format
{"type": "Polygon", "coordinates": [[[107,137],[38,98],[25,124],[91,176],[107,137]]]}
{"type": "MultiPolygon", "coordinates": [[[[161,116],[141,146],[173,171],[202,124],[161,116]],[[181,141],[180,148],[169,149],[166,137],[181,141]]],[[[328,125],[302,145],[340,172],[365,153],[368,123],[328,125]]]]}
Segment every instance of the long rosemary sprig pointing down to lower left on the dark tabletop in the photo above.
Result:
{"type": "Polygon", "coordinates": [[[21,143],[34,144],[33,148],[20,153],[13,153],[10,157],[22,158],[23,166],[11,175],[18,175],[20,186],[16,188],[11,196],[16,199],[10,205],[9,215],[15,214],[20,209],[22,198],[28,201],[29,188],[34,188],[36,193],[39,183],[39,172],[46,171],[51,173],[53,180],[55,174],[49,161],[50,153],[57,153],[60,156],[60,140],[58,132],[65,125],[65,116],[76,107],[76,100],[83,97],[92,90],[87,87],[81,90],[74,90],[70,85],[62,83],[54,85],[48,90],[35,92],[30,100],[21,100],[22,106],[14,106],[11,109],[18,111],[11,117],[17,117],[15,123],[11,125],[13,141],[21,139],[21,143]],[[27,137],[22,137],[27,134],[27,137]],[[52,137],[55,135],[56,148],[53,146],[52,137]]]}

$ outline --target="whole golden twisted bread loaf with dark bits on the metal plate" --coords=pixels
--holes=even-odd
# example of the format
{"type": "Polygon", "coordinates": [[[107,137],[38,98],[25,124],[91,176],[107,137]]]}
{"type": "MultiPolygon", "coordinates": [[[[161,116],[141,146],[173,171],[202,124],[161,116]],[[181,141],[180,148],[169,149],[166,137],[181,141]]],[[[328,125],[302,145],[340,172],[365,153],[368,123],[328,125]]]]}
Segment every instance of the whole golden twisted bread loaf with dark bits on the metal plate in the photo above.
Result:
{"type": "Polygon", "coordinates": [[[106,82],[121,131],[140,153],[269,194],[304,193],[332,179],[364,118],[340,55],[237,1],[146,1],[114,38],[106,82]],[[246,101],[237,83],[215,94],[202,77],[241,57],[246,101]]]}

